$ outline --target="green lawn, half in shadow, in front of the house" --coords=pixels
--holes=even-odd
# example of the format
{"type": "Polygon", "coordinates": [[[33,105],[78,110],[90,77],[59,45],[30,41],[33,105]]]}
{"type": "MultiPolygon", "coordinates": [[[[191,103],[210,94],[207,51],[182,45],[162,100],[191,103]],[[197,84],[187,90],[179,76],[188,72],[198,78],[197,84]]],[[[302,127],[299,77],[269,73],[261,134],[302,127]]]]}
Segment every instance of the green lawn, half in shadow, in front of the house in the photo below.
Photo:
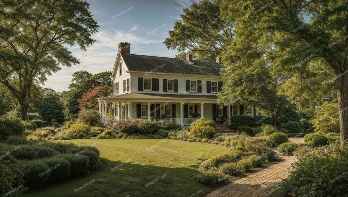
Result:
{"type": "Polygon", "coordinates": [[[107,163],[106,169],[79,181],[29,193],[29,197],[187,197],[193,193],[204,196],[212,189],[194,180],[199,164],[227,151],[220,145],[170,139],[81,139],[67,142],[98,148],[101,159],[107,163]]]}

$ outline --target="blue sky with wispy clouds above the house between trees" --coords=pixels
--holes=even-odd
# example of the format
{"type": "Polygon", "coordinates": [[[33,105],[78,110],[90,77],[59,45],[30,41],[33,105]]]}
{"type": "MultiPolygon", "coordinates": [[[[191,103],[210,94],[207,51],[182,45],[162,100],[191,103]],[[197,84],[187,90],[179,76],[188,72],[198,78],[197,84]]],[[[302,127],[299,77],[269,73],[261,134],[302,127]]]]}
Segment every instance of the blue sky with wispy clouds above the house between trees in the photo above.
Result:
{"type": "Polygon", "coordinates": [[[57,92],[68,90],[72,74],[86,70],[92,74],[112,71],[120,42],[131,44],[131,54],[175,57],[177,51],[163,44],[168,31],[179,20],[182,10],[199,0],[87,0],[93,18],[98,22],[95,42],[82,51],[69,47],[80,60],[79,65],[61,67],[48,76],[43,87],[57,92]]]}

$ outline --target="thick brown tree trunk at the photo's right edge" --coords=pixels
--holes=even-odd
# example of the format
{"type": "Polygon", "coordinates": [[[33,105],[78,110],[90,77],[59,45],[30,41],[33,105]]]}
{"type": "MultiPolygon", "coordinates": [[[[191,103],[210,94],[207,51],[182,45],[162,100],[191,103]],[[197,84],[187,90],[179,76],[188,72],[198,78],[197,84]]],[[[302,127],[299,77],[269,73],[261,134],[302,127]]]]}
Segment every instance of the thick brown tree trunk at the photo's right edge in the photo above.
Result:
{"type": "MultiPolygon", "coordinates": [[[[343,70],[344,71],[344,70],[343,70]]],[[[348,140],[348,73],[340,73],[336,79],[337,101],[340,118],[341,144],[348,140]]]]}

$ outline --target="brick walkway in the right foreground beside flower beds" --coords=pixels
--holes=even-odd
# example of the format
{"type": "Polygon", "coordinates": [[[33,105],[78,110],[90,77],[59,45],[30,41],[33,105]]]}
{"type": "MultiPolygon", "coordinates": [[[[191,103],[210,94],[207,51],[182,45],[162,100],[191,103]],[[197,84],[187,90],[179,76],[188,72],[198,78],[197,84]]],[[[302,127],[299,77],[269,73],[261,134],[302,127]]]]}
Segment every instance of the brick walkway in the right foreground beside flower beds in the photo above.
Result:
{"type": "Polygon", "coordinates": [[[276,189],[276,185],[288,177],[294,157],[281,157],[282,162],[238,179],[218,188],[206,197],[267,197],[276,189]]]}

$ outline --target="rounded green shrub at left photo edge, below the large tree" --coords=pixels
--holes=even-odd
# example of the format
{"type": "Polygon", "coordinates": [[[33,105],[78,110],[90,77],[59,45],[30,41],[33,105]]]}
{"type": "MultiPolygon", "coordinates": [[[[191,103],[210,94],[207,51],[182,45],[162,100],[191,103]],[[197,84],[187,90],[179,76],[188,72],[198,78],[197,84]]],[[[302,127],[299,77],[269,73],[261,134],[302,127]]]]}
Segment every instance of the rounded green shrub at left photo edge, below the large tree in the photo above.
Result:
{"type": "Polygon", "coordinates": [[[10,135],[22,135],[24,130],[21,119],[13,116],[0,117],[0,139],[6,139],[10,135]]]}

